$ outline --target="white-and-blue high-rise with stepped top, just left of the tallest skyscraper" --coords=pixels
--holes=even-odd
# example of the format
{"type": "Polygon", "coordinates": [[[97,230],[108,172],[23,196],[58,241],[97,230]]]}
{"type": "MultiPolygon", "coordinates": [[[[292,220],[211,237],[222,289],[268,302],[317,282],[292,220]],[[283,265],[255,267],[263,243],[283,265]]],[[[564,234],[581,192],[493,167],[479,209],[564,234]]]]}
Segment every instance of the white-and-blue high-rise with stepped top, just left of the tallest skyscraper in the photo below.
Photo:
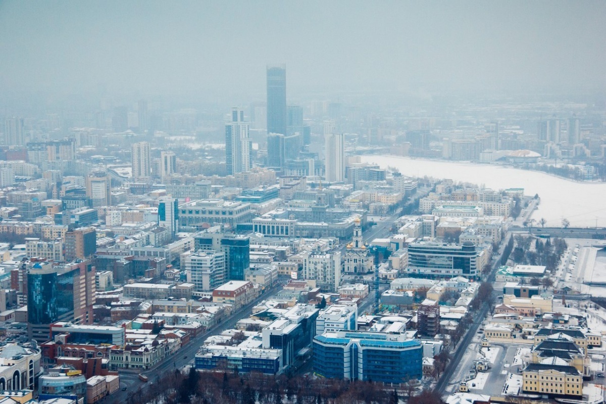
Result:
{"type": "Polygon", "coordinates": [[[250,171],[250,124],[244,111],[234,108],[231,121],[225,124],[225,162],[228,175],[250,171]]]}

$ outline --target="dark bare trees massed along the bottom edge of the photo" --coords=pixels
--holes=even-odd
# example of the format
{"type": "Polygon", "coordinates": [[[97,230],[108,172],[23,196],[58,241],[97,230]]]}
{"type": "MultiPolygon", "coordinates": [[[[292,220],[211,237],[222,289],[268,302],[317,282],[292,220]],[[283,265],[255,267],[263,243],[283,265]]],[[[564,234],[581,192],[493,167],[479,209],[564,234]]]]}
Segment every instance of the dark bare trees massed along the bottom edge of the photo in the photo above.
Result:
{"type": "Polygon", "coordinates": [[[132,392],[127,404],[398,404],[402,394],[410,404],[444,404],[440,395],[431,391],[415,397],[415,386],[416,381],[385,386],[258,372],[241,374],[238,369],[198,372],[190,368],[185,373],[167,372],[147,389],[132,392]]]}

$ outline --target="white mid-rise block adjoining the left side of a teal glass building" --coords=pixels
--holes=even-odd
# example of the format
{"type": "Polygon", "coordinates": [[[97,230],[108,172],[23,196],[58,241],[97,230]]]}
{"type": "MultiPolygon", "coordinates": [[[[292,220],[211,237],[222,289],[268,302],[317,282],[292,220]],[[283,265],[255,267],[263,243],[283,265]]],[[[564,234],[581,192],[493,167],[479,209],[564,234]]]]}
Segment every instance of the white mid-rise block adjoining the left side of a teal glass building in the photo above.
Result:
{"type": "Polygon", "coordinates": [[[187,281],[195,284],[198,292],[212,291],[227,280],[224,252],[184,252],[181,269],[187,271],[187,281]]]}

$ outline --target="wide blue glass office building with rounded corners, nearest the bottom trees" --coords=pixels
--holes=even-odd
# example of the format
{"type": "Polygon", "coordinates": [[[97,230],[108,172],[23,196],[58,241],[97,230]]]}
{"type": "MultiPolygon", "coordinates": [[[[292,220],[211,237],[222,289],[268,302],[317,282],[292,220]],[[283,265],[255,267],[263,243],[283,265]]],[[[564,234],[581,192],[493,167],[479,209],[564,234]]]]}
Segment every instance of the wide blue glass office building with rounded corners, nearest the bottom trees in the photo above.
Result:
{"type": "Polygon", "coordinates": [[[313,370],[323,377],[401,383],[421,379],[421,342],[405,334],[325,332],[313,340],[313,370]]]}

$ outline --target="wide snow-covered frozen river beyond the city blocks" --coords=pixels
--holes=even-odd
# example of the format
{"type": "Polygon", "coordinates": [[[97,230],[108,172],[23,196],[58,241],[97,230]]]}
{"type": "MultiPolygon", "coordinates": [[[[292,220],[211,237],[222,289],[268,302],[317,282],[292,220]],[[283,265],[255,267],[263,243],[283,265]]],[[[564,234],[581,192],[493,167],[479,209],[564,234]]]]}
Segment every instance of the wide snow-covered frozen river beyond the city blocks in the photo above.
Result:
{"type": "Polygon", "coordinates": [[[487,188],[524,188],[526,195],[539,194],[541,204],[533,214],[545,218],[546,226],[561,226],[562,218],[571,227],[606,227],[606,183],[576,183],[542,172],[463,162],[421,160],[405,157],[368,155],[362,161],[381,168],[397,167],[410,177],[449,178],[487,188]]]}

